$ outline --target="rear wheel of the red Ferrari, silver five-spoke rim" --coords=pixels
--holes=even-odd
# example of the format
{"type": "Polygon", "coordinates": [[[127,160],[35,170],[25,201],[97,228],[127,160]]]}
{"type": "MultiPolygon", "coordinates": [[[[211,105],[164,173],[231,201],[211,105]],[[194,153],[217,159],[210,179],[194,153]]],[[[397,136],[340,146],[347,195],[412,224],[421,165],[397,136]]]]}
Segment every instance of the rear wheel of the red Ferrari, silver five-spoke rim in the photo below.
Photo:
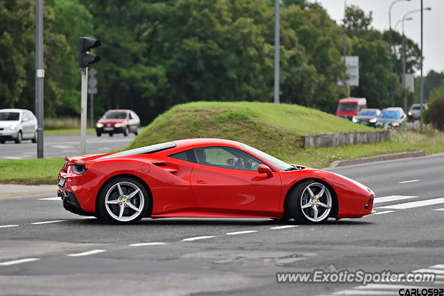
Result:
{"type": "Polygon", "coordinates": [[[110,223],[135,223],[148,216],[150,200],[144,184],[133,177],[116,177],[99,192],[97,216],[110,223]]]}

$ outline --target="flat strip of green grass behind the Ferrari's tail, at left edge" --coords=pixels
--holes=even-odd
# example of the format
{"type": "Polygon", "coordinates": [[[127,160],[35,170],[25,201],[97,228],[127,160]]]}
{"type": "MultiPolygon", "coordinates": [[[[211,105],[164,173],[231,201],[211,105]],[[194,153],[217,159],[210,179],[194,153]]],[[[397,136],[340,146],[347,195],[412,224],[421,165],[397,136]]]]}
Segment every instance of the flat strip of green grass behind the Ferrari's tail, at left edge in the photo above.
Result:
{"type": "Polygon", "coordinates": [[[62,157],[48,159],[11,159],[0,162],[0,183],[57,184],[62,157]]]}

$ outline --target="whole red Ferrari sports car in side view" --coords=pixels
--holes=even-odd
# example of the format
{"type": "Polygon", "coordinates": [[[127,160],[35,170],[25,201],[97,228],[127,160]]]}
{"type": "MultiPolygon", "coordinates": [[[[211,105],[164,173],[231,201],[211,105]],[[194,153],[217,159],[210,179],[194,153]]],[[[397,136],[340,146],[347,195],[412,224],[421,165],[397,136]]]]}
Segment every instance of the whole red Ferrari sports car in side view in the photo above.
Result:
{"type": "Polygon", "coordinates": [[[113,223],[142,218],[293,218],[321,223],[372,212],[375,193],[336,173],[287,164],[237,141],[186,139],[67,157],[68,211],[113,223]]]}

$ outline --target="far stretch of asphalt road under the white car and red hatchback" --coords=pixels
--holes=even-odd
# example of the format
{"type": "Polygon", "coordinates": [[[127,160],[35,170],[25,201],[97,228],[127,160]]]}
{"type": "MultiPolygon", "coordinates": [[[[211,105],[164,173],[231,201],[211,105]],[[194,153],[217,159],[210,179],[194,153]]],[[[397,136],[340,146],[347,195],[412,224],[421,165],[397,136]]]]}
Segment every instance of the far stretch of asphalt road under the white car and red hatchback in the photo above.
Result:
{"type": "MultiPolygon", "coordinates": [[[[103,134],[102,137],[96,137],[94,134],[87,135],[87,154],[107,153],[111,150],[125,148],[130,141],[133,141],[134,134],[124,137],[123,134],[114,134],[110,137],[103,134]]],[[[44,157],[65,157],[71,155],[80,155],[80,135],[79,134],[51,134],[44,136],[44,157]]],[[[5,159],[30,159],[37,157],[37,143],[23,141],[16,144],[13,141],[7,141],[0,144],[0,160],[5,159]]]]}

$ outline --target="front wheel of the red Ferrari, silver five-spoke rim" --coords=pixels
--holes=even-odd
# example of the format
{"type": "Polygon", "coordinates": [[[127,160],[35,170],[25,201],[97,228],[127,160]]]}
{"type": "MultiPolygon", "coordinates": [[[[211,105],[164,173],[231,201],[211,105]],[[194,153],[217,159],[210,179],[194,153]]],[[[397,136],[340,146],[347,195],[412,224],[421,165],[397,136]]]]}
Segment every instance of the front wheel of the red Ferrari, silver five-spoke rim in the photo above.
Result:
{"type": "Polygon", "coordinates": [[[329,186],[318,180],[306,180],[291,189],[288,213],[299,223],[322,223],[330,217],[333,195],[329,186]]]}

